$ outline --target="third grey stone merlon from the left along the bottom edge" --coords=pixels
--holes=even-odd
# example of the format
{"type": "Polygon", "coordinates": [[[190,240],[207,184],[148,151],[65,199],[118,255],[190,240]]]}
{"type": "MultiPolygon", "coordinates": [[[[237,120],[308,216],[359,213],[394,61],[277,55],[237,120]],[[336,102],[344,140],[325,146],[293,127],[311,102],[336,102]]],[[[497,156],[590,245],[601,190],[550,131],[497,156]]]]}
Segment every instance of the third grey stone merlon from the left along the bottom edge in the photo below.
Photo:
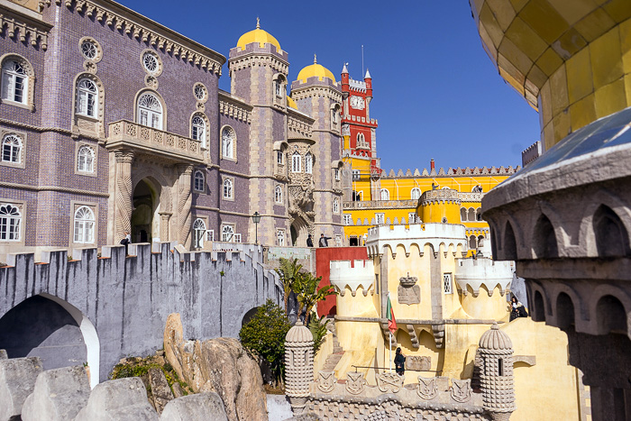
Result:
{"type": "Polygon", "coordinates": [[[158,421],[138,377],[109,380],[96,385],[75,421],[158,421]]]}

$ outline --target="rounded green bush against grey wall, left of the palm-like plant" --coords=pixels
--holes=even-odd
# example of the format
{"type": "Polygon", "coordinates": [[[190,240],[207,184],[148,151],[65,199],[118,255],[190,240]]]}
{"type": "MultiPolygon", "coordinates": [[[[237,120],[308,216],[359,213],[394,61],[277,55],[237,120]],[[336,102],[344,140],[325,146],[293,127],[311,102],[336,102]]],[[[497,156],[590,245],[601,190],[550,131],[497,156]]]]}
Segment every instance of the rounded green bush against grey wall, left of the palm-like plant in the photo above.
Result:
{"type": "Polygon", "coordinates": [[[239,332],[243,347],[270,363],[277,384],[285,373],[285,336],[290,327],[285,311],[268,299],[239,332]]]}

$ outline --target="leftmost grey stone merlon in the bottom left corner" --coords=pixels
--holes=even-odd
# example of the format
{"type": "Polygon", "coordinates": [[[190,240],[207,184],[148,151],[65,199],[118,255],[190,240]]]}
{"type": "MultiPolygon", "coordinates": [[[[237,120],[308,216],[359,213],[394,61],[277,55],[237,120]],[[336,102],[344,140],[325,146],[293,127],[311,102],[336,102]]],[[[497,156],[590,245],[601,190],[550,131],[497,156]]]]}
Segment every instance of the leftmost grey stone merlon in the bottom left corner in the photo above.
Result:
{"type": "Polygon", "coordinates": [[[39,357],[0,360],[0,421],[19,419],[41,367],[39,357]]]}

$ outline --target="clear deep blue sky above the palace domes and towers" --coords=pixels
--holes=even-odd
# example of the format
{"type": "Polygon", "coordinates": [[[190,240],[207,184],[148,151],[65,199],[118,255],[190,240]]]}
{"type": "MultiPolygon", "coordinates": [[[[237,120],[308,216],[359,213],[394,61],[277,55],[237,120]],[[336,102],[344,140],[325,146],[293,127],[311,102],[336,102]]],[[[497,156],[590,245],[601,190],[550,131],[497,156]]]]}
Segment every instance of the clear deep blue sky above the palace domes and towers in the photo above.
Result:
{"type": "MultiPolygon", "coordinates": [[[[289,80],[313,63],[339,79],[370,69],[383,169],[516,166],[539,137],[539,116],[499,77],[466,0],[253,2],[121,0],[223,54],[261,18],[289,54],[289,80]]],[[[219,85],[230,90],[227,64],[219,85]]]]}

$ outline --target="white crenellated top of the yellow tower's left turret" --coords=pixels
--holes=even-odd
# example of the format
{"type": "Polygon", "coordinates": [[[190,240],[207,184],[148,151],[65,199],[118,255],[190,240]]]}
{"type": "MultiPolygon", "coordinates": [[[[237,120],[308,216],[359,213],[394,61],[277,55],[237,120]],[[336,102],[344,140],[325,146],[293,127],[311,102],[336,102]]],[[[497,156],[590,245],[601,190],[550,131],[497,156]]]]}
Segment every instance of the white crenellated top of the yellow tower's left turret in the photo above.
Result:
{"type": "Polygon", "coordinates": [[[331,285],[342,297],[346,293],[346,288],[351,289],[352,297],[355,297],[359,287],[363,289],[363,295],[366,297],[375,281],[375,267],[371,260],[331,261],[330,269],[331,285]]]}

